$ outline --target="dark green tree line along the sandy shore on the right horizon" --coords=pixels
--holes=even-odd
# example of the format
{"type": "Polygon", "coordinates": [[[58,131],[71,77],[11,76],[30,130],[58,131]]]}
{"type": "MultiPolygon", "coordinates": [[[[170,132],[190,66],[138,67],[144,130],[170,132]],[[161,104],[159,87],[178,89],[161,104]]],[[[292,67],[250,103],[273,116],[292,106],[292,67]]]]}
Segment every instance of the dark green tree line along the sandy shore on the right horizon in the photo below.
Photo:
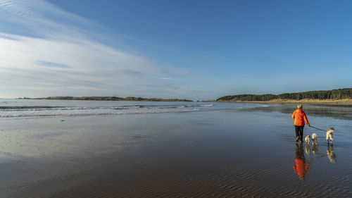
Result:
{"type": "Polygon", "coordinates": [[[270,101],[273,99],[352,99],[352,88],[284,94],[238,94],[220,97],[216,101],[270,101]]]}

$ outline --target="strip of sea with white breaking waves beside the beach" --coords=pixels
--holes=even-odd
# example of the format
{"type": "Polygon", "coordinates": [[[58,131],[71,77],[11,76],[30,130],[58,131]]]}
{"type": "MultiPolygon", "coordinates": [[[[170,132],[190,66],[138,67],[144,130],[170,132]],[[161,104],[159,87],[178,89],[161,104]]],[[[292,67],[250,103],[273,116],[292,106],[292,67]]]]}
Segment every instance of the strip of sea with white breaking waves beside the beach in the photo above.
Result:
{"type": "Polygon", "coordinates": [[[214,111],[220,109],[251,109],[258,106],[268,105],[163,101],[0,99],[0,118],[177,113],[188,111],[214,111]]]}

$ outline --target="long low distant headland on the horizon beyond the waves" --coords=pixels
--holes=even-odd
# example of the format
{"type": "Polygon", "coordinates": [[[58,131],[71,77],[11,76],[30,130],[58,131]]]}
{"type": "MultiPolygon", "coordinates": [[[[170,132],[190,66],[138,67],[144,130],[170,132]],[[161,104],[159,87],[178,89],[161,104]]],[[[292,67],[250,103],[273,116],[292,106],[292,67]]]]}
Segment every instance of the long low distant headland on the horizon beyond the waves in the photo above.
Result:
{"type": "Polygon", "coordinates": [[[141,97],[43,97],[43,98],[19,98],[19,99],[65,99],[65,100],[98,100],[98,101],[191,101],[188,99],[158,99],[141,97]]]}

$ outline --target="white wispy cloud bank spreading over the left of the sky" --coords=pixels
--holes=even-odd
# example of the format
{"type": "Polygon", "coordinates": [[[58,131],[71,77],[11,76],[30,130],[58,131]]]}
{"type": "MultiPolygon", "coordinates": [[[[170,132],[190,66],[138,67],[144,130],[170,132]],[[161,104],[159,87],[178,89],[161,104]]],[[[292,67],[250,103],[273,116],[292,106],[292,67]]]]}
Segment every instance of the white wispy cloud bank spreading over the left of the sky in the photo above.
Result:
{"type": "Polygon", "coordinates": [[[172,72],[94,39],[105,37],[99,23],[42,0],[0,0],[0,18],[6,27],[0,30],[4,97],[180,94],[177,85],[157,80],[172,72]]]}

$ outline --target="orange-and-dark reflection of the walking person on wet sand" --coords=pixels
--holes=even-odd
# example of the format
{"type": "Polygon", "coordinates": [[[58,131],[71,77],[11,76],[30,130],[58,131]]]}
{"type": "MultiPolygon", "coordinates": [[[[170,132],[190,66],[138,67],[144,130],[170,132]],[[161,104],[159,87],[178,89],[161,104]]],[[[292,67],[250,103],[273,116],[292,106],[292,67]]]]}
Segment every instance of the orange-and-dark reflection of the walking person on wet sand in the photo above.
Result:
{"type": "MultiPolygon", "coordinates": [[[[310,149],[309,149],[310,151],[310,149]]],[[[309,161],[306,163],[306,157],[304,156],[303,144],[296,144],[296,158],[294,159],[294,172],[299,176],[301,180],[304,179],[309,169],[309,161]]]]}

